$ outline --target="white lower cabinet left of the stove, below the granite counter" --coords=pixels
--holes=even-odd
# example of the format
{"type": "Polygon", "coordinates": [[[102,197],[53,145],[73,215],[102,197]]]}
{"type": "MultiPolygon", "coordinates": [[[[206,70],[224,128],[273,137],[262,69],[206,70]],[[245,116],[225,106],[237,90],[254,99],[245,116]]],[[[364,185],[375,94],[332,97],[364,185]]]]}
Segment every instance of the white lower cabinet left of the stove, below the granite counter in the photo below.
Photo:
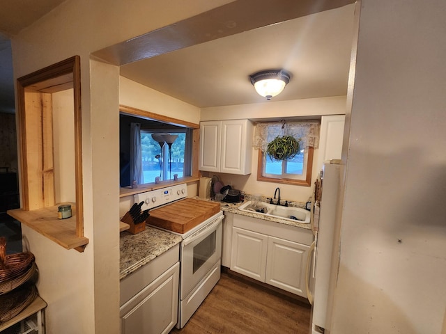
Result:
{"type": "Polygon", "coordinates": [[[172,250],[121,281],[121,334],[167,334],[176,325],[180,262],[172,250]]]}

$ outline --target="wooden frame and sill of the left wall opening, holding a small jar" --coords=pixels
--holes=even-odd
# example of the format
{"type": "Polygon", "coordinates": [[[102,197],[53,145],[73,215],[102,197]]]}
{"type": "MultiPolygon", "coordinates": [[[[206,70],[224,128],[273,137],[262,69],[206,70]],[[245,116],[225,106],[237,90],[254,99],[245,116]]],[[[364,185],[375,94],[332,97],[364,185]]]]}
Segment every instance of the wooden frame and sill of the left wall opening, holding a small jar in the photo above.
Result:
{"type": "MultiPolygon", "coordinates": [[[[33,97],[31,97],[33,100],[33,97]]],[[[84,198],[82,178],[82,103],[80,56],[49,65],[17,79],[17,120],[20,129],[20,178],[22,180],[22,208],[8,212],[20,223],[56,242],[66,249],[82,253],[89,239],[84,237],[84,198]],[[52,93],[73,90],[73,126],[75,145],[75,214],[61,224],[54,218],[57,210],[54,198],[54,157],[52,138],[52,93]],[[40,100],[29,100],[29,93],[41,95],[40,100]],[[43,111],[47,116],[43,117],[43,111]],[[36,122],[36,117],[40,118],[36,122]],[[46,143],[43,143],[45,135],[46,143]],[[31,149],[34,145],[34,148],[31,149]],[[36,154],[40,152],[40,154],[36,154]],[[44,164],[40,159],[47,161],[44,164]],[[36,168],[38,166],[38,168],[36,168]],[[28,212],[34,212],[29,214],[28,212]]],[[[69,124],[69,123],[68,123],[69,124]]]]}

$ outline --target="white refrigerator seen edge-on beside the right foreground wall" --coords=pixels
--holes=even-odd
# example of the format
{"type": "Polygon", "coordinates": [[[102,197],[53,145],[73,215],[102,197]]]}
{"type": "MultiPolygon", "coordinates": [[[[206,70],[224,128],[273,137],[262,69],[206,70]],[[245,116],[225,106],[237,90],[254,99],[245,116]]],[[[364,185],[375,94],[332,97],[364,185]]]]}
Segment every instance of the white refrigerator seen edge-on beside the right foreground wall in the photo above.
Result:
{"type": "Polygon", "coordinates": [[[330,294],[330,270],[332,263],[334,225],[341,180],[339,160],[324,164],[316,180],[312,230],[313,252],[309,254],[309,265],[313,282],[307,283],[307,293],[312,303],[311,333],[325,333],[328,328],[328,296],[330,294]]]}

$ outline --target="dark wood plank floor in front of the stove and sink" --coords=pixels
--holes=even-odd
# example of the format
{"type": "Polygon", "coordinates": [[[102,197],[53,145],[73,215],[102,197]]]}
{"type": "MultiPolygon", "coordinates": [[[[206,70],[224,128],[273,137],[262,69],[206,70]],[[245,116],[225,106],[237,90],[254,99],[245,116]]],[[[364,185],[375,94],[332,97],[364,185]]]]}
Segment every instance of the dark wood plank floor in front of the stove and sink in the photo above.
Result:
{"type": "Polygon", "coordinates": [[[186,326],[170,333],[309,333],[310,306],[256,287],[231,273],[222,278],[186,326]]]}

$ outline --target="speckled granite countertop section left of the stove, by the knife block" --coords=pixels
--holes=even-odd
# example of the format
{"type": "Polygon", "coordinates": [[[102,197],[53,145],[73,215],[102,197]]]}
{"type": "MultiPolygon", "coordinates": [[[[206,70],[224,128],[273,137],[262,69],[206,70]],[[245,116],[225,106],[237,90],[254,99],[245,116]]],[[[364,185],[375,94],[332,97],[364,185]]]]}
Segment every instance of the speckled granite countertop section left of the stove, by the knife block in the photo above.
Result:
{"type": "Polygon", "coordinates": [[[148,264],[155,257],[180,244],[181,237],[146,225],[146,230],[137,234],[121,232],[119,248],[119,279],[148,264]]]}

